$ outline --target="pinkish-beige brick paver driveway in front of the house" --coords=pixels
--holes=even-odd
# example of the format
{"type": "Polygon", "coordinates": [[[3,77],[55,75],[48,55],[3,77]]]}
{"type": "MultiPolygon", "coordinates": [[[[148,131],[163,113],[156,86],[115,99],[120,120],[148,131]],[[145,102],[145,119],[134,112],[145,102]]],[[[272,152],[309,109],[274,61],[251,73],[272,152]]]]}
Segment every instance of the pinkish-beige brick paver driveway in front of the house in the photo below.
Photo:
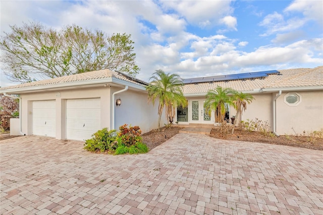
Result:
{"type": "Polygon", "coordinates": [[[147,154],[1,141],[1,214],[322,214],[322,151],[178,134],[147,154]]]}

